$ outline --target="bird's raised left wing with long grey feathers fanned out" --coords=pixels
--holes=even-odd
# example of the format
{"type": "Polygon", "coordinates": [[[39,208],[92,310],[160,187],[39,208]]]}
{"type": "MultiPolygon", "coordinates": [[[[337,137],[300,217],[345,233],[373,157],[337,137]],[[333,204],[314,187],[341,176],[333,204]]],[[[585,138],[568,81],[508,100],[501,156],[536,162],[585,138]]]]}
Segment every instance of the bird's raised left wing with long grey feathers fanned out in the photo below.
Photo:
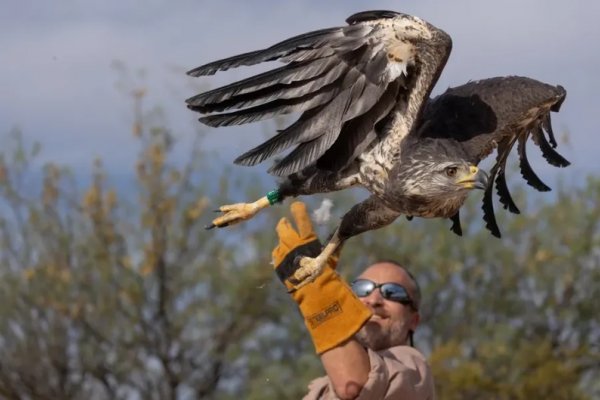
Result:
{"type": "MultiPolygon", "coordinates": [[[[255,165],[295,146],[269,172],[284,176],[314,163],[343,168],[377,140],[376,124],[413,89],[423,62],[420,54],[426,52],[432,32],[441,32],[416,17],[391,11],[358,13],[347,23],[189,71],[200,76],[265,61],[285,63],[194,96],[187,100],[188,107],[206,114],[200,121],[215,127],[301,112],[298,120],[235,162],[255,165]]],[[[449,38],[446,47],[443,63],[449,38]]]]}

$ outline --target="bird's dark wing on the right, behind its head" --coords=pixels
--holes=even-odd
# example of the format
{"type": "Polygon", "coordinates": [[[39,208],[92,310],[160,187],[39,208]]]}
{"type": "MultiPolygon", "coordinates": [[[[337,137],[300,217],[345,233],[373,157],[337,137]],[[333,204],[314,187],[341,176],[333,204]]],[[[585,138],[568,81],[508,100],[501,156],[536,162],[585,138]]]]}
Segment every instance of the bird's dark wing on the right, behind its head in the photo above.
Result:
{"type": "MultiPolygon", "coordinates": [[[[556,167],[569,165],[554,150],[557,143],[550,123],[550,112],[560,109],[565,96],[566,91],[562,86],[551,86],[524,77],[498,77],[469,82],[448,89],[428,103],[419,134],[461,142],[470,158],[468,161],[475,164],[497,148],[490,182],[495,182],[504,208],[519,213],[506,184],[508,154],[516,144],[523,178],[539,191],[550,190],[531,168],[526,142],[531,137],[549,164],[556,167]]],[[[490,184],[485,191],[482,208],[486,227],[499,237],[492,204],[493,186],[490,184]]]]}

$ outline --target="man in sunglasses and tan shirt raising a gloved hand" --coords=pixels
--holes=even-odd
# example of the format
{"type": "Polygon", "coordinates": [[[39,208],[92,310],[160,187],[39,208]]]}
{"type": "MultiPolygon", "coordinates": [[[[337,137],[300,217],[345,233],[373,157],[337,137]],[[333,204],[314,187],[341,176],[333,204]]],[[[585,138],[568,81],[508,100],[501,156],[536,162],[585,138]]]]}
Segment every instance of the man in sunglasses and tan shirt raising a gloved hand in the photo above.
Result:
{"type": "Polygon", "coordinates": [[[306,206],[290,207],[297,230],[286,218],[277,224],[273,250],[277,275],[298,303],[327,376],[311,382],[305,399],[433,399],[433,379],[414,348],[419,323],[419,287],[400,265],[369,266],[349,287],[335,272],[337,256],[313,282],[297,290],[288,278],[294,259],[318,254],[320,244],[306,206]]]}

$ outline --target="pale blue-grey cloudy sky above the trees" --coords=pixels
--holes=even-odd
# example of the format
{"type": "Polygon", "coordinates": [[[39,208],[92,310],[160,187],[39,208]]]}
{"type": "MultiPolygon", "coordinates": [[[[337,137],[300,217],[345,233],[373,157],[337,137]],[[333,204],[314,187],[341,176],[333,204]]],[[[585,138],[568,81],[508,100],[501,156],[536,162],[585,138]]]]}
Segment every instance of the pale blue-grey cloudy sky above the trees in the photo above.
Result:
{"type": "MultiPolygon", "coordinates": [[[[0,0],[0,9],[0,138],[18,128],[42,144],[43,159],[75,170],[91,170],[91,160],[101,157],[109,171],[132,171],[139,146],[117,63],[130,71],[130,86],[148,88],[145,104],[160,106],[178,140],[188,143],[201,126],[184,100],[200,87],[244,78],[249,70],[208,78],[190,78],[185,71],[343,25],[358,11],[389,9],[419,16],[452,37],[434,95],[501,75],[564,86],[567,99],[553,125],[559,136],[569,133],[569,143],[558,150],[573,165],[547,166],[533,149],[530,161],[542,178],[598,172],[600,2],[0,0]]],[[[266,129],[206,129],[204,146],[232,161],[264,139],[266,129]]]]}

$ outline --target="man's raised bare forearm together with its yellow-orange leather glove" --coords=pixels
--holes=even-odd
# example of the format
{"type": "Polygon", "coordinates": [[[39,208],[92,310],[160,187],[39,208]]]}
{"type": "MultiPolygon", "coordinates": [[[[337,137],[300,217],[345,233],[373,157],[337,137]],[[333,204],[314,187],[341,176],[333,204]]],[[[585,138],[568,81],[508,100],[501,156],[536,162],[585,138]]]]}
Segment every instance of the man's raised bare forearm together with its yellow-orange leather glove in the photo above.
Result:
{"type": "MultiPolygon", "coordinates": [[[[277,275],[288,289],[286,277],[292,274],[294,258],[318,252],[320,243],[303,203],[290,207],[297,230],[283,218],[277,224],[279,244],[273,250],[277,275]]],[[[368,380],[367,351],[353,339],[369,319],[371,311],[354,295],[350,286],[335,272],[337,254],[327,260],[326,268],[313,282],[291,290],[298,303],[317,353],[333,388],[342,399],[353,399],[368,380]]]]}

